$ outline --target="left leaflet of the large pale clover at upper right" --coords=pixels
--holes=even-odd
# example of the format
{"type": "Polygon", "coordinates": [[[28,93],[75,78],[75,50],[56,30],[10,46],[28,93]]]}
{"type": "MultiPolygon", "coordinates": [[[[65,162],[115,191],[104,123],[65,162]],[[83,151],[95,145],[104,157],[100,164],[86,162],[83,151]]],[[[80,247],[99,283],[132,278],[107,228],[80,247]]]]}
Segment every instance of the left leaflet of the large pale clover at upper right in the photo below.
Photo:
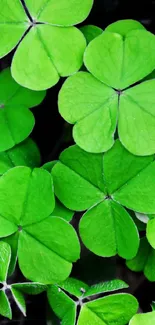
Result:
{"type": "Polygon", "coordinates": [[[66,80],[58,103],[62,117],[75,124],[73,137],[81,148],[98,153],[112,147],[118,106],[113,89],[79,72],[66,80]]]}

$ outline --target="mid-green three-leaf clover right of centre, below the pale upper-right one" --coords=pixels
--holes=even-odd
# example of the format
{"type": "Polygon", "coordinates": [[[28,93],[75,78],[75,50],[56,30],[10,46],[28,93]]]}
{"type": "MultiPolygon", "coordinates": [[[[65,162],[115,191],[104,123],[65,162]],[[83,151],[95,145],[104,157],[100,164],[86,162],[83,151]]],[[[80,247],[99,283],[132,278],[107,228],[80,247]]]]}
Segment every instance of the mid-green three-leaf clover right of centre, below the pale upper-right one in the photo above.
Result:
{"type": "Polygon", "coordinates": [[[154,156],[134,156],[117,140],[105,154],[74,145],[59,160],[52,169],[55,194],[67,208],[87,210],[79,226],[85,246],[100,256],[133,258],[139,236],[123,206],[155,212],[154,156]]]}

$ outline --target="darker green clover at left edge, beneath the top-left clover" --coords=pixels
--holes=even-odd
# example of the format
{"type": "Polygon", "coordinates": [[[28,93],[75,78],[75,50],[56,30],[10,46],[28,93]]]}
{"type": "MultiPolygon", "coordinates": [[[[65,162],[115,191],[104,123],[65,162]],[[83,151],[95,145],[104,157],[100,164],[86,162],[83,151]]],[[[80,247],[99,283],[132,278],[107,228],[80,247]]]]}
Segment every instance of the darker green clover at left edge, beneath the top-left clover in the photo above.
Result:
{"type": "Polygon", "coordinates": [[[35,123],[28,108],[39,105],[45,95],[45,91],[35,92],[19,86],[11,77],[10,69],[0,73],[0,152],[28,137],[35,123]]]}

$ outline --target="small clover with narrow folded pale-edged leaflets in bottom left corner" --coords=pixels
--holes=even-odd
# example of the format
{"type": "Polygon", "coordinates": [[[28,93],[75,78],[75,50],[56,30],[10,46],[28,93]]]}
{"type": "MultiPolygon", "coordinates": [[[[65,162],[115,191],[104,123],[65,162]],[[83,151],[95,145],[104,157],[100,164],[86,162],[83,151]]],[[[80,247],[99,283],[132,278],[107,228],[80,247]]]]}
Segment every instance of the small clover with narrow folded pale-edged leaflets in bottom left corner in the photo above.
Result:
{"type": "Polygon", "coordinates": [[[7,243],[0,242],[0,314],[12,318],[11,306],[7,297],[8,292],[12,293],[15,303],[21,312],[26,316],[26,304],[23,292],[36,295],[46,290],[41,283],[13,283],[7,284],[8,268],[11,259],[11,249],[7,243]]]}

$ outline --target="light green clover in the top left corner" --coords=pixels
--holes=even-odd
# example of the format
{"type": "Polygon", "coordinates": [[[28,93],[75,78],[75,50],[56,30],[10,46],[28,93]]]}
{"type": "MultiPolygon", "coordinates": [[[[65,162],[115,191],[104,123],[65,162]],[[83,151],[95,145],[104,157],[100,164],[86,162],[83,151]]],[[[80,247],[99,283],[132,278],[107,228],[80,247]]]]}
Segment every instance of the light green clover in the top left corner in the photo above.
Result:
{"type": "Polygon", "coordinates": [[[13,78],[22,86],[43,90],[82,65],[86,41],[74,25],[89,14],[93,0],[2,0],[0,57],[19,43],[12,62],[13,78]],[[8,42],[9,39],[9,42],[8,42]]]}

